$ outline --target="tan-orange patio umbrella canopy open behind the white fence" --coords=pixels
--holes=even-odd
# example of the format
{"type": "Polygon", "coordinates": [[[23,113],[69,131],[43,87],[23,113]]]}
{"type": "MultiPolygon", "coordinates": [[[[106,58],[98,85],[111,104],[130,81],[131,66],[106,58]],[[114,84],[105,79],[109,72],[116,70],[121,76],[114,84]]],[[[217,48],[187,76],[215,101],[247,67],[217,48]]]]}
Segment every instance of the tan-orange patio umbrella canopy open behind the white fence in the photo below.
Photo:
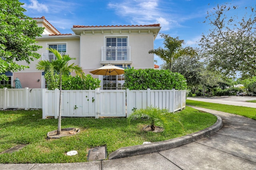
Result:
{"type": "Polygon", "coordinates": [[[108,64],[96,70],[92,70],[90,71],[90,73],[96,74],[96,75],[103,75],[103,76],[120,75],[120,74],[124,74],[124,68],[121,68],[112,64],[108,64]]]}

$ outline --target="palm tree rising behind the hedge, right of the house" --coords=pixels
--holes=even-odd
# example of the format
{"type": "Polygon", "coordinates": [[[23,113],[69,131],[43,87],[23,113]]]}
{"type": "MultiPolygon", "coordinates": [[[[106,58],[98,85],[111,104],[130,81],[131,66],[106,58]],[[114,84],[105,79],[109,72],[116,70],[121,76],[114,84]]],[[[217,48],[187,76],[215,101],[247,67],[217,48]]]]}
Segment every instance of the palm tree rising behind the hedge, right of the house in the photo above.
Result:
{"type": "Polygon", "coordinates": [[[168,65],[168,69],[172,71],[172,65],[176,59],[180,56],[193,57],[197,55],[197,52],[192,47],[183,48],[184,40],[180,40],[179,37],[173,38],[167,34],[160,34],[160,37],[164,38],[164,49],[159,47],[158,49],[152,49],[148,53],[155,54],[160,57],[168,65]]]}

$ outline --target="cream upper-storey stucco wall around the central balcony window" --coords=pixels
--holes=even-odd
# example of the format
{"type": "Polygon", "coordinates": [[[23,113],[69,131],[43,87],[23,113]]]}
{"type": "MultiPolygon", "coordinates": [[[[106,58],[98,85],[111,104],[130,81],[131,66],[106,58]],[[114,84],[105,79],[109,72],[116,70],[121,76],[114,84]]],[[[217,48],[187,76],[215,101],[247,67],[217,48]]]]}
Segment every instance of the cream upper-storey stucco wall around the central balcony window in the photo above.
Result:
{"type": "Polygon", "coordinates": [[[88,34],[80,37],[80,64],[86,69],[86,72],[102,66],[100,61],[102,60],[102,47],[106,47],[106,37],[128,37],[132,61],[131,67],[154,68],[154,55],[148,53],[154,48],[152,33],[88,34]]]}

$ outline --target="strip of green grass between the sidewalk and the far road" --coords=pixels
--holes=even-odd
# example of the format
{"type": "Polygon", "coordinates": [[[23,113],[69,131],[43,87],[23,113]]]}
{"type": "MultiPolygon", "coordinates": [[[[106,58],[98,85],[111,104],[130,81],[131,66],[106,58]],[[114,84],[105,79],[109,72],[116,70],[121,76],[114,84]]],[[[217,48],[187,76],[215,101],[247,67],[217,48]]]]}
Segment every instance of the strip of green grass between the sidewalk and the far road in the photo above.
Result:
{"type": "Polygon", "coordinates": [[[186,100],[186,104],[223,111],[227,113],[233,113],[236,115],[241,115],[241,116],[249,117],[251,119],[256,120],[256,108],[252,108],[252,107],[232,106],[232,105],[226,105],[226,104],[216,104],[216,103],[200,102],[200,101],[194,101],[194,100],[186,100]]]}

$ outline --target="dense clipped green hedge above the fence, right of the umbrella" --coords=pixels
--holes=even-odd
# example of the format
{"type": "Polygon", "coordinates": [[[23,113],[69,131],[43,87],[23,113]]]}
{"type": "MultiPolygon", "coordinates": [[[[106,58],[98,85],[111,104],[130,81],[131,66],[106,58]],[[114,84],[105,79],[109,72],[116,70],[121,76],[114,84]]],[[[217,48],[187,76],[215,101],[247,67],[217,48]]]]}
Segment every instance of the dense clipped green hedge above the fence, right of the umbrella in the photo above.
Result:
{"type": "Polygon", "coordinates": [[[186,90],[187,84],[184,76],[169,70],[155,70],[153,68],[128,68],[124,70],[124,86],[130,90],[186,90]]]}

